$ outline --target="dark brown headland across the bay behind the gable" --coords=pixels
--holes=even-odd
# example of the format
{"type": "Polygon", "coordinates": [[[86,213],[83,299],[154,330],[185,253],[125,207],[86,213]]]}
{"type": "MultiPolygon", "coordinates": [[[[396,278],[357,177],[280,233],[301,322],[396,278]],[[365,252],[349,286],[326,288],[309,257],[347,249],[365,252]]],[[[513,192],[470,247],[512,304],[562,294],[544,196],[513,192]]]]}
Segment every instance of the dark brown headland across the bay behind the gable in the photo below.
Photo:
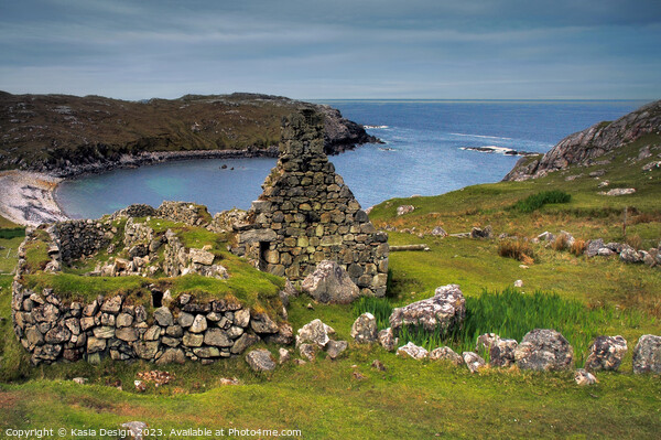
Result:
{"type": "Polygon", "coordinates": [[[275,155],[282,117],[303,107],[325,115],[327,153],[377,141],[334,108],[279,96],[236,93],[127,101],[0,92],[0,169],[71,176],[219,150],[275,155]]]}

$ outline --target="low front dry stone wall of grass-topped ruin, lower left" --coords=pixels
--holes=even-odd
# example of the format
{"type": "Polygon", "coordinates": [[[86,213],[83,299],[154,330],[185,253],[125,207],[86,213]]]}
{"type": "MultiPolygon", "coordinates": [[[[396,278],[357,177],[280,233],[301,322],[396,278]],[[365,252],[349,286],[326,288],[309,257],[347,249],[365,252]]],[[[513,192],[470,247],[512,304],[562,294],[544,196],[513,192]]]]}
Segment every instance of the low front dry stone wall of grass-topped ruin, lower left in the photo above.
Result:
{"type": "Polygon", "coordinates": [[[14,332],[34,365],[87,359],[145,359],[156,364],[203,363],[241,354],[261,339],[291,343],[291,326],[263,313],[216,300],[182,296],[148,313],[121,296],[65,303],[51,289],[32,291],[14,281],[14,332]]]}

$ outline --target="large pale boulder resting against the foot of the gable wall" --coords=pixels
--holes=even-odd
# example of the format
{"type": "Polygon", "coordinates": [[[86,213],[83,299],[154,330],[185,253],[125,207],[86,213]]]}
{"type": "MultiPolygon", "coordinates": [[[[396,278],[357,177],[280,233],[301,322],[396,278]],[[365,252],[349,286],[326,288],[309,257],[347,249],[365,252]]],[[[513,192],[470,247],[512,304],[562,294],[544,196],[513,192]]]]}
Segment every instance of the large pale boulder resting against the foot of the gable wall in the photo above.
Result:
{"type": "MultiPolygon", "coordinates": [[[[356,265],[362,273],[362,268],[356,265]]],[[[351,270],[351,267],[349,267],[351,270]]],[[[323,303],[344,304],[360,296],[360,289],[337,262],[324,260],[301,283],[303,291],[323,303]]]]}

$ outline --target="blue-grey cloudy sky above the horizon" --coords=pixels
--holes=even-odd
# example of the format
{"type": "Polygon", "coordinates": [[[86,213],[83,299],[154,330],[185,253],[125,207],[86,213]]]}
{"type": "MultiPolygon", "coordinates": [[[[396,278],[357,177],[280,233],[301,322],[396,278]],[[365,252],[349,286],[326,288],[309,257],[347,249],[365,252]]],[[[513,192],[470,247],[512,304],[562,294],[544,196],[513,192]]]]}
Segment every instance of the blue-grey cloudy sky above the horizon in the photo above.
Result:
{"type": "Polygon", "coordinates": [[[661,0],[0,0],[0,90],[660,99],[661,0]]]}

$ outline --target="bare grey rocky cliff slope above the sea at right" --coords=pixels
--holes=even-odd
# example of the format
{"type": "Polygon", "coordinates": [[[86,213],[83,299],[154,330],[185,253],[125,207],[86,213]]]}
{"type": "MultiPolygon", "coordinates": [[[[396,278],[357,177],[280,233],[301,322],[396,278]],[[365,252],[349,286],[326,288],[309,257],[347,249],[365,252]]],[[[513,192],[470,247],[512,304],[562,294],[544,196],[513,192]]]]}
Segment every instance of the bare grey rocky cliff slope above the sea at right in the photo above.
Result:
{"type": "MultiPolygon", "coordinates": [[[[571,165],[590,165],[609,152],[643,136],[661,131],[661,100],[648,104],[614,122],[599,122],[570,135],[543,157],[522,158],[505,181],[522,181],[564,170],[571,165]]],[[[641,146],[644,148],[648,146],[641,146]]]]}

